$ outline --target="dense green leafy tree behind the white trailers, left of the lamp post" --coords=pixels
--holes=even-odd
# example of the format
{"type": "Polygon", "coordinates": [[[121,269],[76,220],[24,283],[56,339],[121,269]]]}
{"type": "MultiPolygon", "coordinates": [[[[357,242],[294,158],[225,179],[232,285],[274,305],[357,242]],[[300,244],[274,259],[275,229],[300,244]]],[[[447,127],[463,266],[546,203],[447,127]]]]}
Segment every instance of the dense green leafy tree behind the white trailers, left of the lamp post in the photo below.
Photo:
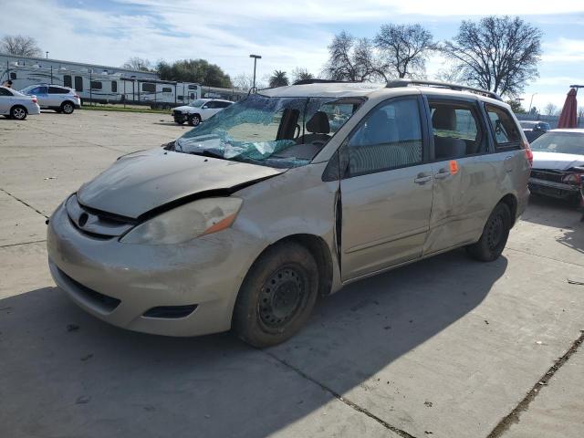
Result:
{"type": "Polygon", "coordinates": [[[209,87],[232,87],[231,78],[219,66],[204,59],[182,59],[169,64],[160,61],[156,71],[162,80],[197,82],[209,87]]]}

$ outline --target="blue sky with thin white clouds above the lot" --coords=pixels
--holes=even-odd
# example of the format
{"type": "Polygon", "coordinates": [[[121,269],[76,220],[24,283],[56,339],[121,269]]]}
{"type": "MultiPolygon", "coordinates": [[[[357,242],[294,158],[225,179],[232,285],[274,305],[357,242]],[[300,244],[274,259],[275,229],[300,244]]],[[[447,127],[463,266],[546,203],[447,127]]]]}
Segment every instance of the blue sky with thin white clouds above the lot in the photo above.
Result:
{"type": "MultiPolygon", "coordinates": [[[[584,1],[489,0],[0,0],[0,37],[33,36],[49,57],[121,66],[130,57],[155,62],[203,58],[233,77],[308,68],[318,76],[327,46],[341,30],[372,37],[386,23],[420,23],[436,40],[456,35],[462,20],[521,16],[543,33],[539,78],[524,107],[563,105],[568,86],[584,85],[584,1]],[[537,93],[534,95],[534,93],[537,93]]],[[[432,57],[428,78],[446,68],[432,57]]],[[[584,97],[580,104],[584,106],[584,97]]]]}

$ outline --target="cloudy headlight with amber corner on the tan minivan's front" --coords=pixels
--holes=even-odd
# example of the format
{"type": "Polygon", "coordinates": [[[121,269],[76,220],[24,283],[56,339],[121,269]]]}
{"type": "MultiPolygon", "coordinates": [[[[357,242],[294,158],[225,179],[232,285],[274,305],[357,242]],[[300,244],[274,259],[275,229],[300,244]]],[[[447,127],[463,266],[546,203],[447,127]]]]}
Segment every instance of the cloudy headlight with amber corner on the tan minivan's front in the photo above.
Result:
{"type": "Polygon", "coordinates": [[[182,244],[200,235],[210,235],[234,223],[242,200],[235,197],[204,198],[186,203],[132,228],[124,244],[182,244]]]}

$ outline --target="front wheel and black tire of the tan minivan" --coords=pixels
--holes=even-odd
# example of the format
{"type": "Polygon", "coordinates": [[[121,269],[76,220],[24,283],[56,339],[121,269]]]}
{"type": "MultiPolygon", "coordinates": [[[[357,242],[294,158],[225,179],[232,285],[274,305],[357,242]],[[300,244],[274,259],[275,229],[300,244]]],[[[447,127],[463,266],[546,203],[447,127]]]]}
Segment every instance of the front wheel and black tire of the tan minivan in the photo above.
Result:
{"type": "Polygon", "coordinates": [[[233,329],[264,348],[289,339],[310,317],[318,297],[318,267],[307,248],[274,245],[255,260],[235,302],[233,329]]]}

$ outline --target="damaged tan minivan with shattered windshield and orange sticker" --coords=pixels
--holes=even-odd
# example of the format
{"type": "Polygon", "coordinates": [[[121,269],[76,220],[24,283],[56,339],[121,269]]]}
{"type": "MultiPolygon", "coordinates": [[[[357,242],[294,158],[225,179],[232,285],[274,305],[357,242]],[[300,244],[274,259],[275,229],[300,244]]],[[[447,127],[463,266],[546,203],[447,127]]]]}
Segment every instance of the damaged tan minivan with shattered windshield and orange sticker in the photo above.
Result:
{"type": "Polygon", "coordinates": [[[265,347],[360,278],[457,247],[495,260],[526,208],[531,152],[510,107],[470,90],[400,80],[252,94],[68,196],[48,223],[52,276],[111,324],[233,328],[265,347]]]}

